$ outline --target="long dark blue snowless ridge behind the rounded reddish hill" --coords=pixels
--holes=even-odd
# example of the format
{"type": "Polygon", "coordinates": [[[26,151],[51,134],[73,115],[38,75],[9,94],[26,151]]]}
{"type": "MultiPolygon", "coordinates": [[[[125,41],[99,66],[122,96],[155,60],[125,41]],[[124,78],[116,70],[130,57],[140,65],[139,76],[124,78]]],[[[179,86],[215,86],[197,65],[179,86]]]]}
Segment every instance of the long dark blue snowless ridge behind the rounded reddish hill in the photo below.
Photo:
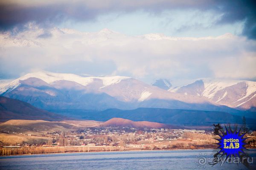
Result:
{"type": "MultiPolygon", "coordinates": [[[[112,118],[129,119],[132,121],[158,122],[167,125],[213,125],[214,123],[237,123],[242,124],[243,118],[240,115],[233,115],[220,111],[196,111],[182,109],[164,108],[137,108],[133,110],[107,109],[104,111],[91,110],[55,110],[70,118],[95,120],[105,122],[112,118]]],[[[246,118],[247,125],[255,125],[255,117],[246,118]]]]}

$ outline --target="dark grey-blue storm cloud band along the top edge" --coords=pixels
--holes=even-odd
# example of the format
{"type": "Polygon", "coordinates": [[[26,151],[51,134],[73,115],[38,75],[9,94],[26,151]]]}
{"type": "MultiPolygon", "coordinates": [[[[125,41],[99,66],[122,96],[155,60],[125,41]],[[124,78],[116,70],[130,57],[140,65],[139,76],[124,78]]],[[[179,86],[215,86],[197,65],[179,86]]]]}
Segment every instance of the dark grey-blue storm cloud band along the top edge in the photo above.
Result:
{"type": "Polygon", "coordinates": [[[245,21],[242,34],[256,39],[255,0],[87,0],[87,1],[17,1],[0,2],[0,28],[6,30],[35,22],[42,26],[54,26],[67,20],[94,20],[101,14],[144,10],[159,13],[171,9],[211,10],[223,17],[216,24],[245,21]]]}

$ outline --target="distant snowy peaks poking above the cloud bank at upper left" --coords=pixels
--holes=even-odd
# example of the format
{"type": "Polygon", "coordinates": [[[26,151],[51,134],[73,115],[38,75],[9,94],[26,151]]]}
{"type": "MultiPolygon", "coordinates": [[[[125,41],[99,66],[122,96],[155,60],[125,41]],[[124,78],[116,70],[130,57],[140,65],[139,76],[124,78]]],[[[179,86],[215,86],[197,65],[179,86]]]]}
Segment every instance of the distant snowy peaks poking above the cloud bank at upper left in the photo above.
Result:
{"type": "Polygon", "coordinates": [[[13,36],[10,32],[0,33],[0,44],[3,48],[9,47],[47,47],[48,45],[62,44],[65,48],[73,48],[78,40],[83,45],[92,45],[107,40],[122,40],[126,36],[104,28],[97,32],[80,32],[67,28],[43,29],[32,26],[28,31],[13,36]],[[52,41],[45,40],[51,37],[52,41]],[[71,38],[72,37],[72,38],[71,38]],[[61,39],[61,42],[60,42],[61,39]]]}

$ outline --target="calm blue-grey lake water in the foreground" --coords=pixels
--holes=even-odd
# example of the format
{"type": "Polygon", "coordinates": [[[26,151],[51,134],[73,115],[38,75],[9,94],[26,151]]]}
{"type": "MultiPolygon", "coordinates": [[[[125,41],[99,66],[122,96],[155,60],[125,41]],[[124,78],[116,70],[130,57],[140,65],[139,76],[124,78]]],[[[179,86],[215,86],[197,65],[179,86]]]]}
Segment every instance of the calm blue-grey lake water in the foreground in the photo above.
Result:
{"type": "MultiPolygon", "coordinates": [[[[0,170],[243,170],[243,164],[210,166],[213,150],[161,150],[100,153],[66,153],[0,157],[0,170]],[[204,158],[203,158],[204,159],[204,158]],[[203,161],[204,162],[204,161],[203,161]],[[199,167],[200,166],[200,167],[199,167]]],[[[250,150],[256,162],[256,150],[250,150]]],[[[253,163],[256,170],[256,164],[253,163]]]]}

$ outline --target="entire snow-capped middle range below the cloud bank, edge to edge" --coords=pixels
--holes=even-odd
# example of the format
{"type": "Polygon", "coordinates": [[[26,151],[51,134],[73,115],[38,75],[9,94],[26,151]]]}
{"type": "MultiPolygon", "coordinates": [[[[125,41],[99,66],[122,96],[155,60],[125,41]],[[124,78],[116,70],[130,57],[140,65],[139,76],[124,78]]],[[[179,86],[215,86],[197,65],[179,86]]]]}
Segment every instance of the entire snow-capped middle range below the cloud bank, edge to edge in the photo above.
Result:
{"type": "Polygon", "coordinates": [[[105,110],[108,108],[135,109],[143,107],[236,112],[229,108],[233,107],[253,111],[255,83],[247,81],[236,85],[235,82],[230,83],[233,85],[232,88],[228,86],[229,84],[223,86],[222,84],[225,82],[221,81],[216,84],[216,87],[214,83],[213,85],[209,83],[210,88],[208,86],[204,88],[202,81],[199,81],[196,82],[199,84],[167,91],[131,77],[81,77],[75,74],[39,71],[26,74],[15,80],[0,80],[0,95],[19,99],[46,110],[105,110]],[[237,88],[238,86],[241,86],[240,90],[237,88]],[[250,90],[250,93],[247,92],[247,89],[250,90]],[[196,93],[196,91],[198,92],[196,93]],[[233,99],[239,100],[241,105],[238,103],[231,105],[233,100],[225,98],[226,91],[228,92],[226,96],[232,95],[231,92],[235,93],[233,95],[241,93],[237,95],[240,100],[233,99]],[[220,99],[221,97],[223,99],[220,99]]]}

